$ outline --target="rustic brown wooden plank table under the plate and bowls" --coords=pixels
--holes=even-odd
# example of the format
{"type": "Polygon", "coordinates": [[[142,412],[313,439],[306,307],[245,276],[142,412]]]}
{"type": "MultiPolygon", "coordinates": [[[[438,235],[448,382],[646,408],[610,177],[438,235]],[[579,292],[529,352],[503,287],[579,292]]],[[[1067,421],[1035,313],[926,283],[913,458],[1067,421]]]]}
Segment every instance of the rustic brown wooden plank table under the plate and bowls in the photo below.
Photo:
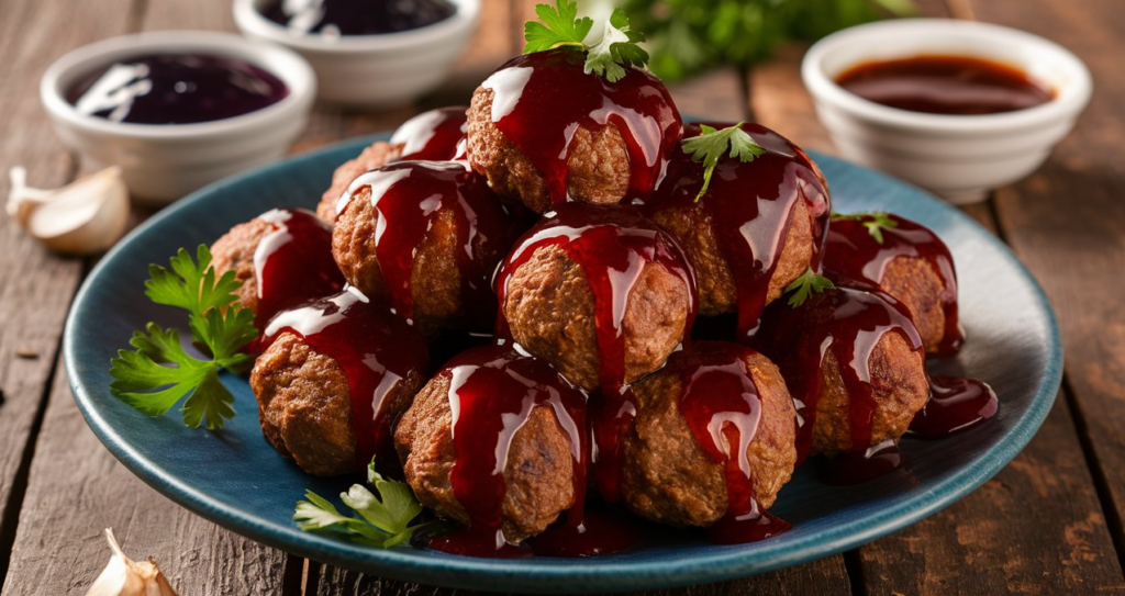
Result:
{"type": "MultiPolygon", "coordinates": [[[[1032,178],[968,213],[1008,242],[1054,304],[1063,389],[1030,445],[996,478],[873,544],[695,594],[1125,594],[1125,7],[1122,0],[940,0],[927,13],[999,22],[1054,39],[1096,81],[1074,134],[1032,178]]],[[[318,109],[294,151],[394,128],[467,102],[522,46],[530,0],[484,0],[470,51],[446,88],[385,114],[318,109]]],[[[88,169],[39,106],[44,69],[97,39],[154,29],[234,30],[228,0],[0,0],[0,169],[61,186],[88,169]]],[[[718,70],[673,89],[681,110],[756,118],[832,151],[800,83],[802,47],[753,72],[718,70]]],[[[0,214],[0,578],[2,596],[82,595],[108,559],[101,530],[155,556],[181,595],[374,595],[449,590],[366,577],[256,544],[134,478],[98,443],[60,364],[70,301],[90,261],[50,254],[0,214]]],[[[202,432],[202,431],[200,431],[202,432]]]]}

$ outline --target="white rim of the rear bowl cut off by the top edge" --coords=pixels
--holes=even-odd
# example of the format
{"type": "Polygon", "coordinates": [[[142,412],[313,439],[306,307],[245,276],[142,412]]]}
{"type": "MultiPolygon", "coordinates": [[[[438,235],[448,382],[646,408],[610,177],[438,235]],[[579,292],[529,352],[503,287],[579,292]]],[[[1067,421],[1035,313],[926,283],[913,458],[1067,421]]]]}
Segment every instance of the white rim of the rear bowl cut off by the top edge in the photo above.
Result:
{"type": "Polygon", "coordinates": [[[480,12],[480,0],[449,0],[456,8],[453,13],[447,19],[424,27],[378,35],[343,35],[328,39],[322,35],[290,34],[285,27],[258,11],[255,4],[261,1],[264,0],[234,0],[234,21],[243,33],[302,52],[326,54],[378,52],[442,44],[446,43],[447,36],[476,22],[480,12]]]}

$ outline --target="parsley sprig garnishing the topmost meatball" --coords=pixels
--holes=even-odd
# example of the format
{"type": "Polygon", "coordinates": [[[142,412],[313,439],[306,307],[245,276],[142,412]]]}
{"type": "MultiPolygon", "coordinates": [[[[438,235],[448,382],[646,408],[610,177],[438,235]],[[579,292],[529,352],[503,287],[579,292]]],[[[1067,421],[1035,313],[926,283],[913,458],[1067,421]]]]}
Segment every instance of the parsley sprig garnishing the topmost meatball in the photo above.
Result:
{"type": "Polygon", "coordinates": [[[577,2],[556,0],[554,7],[536,4],[536,15],[539,21],[529,20],[523,26],[524,54],[560,47],[585,52],[586,74],[597,74],[611,83],[624,78],[626,66],[648,64],[648,52],[638,45],[645,40],[645,34],[629,26],[629,15],[621,8],[613,10],[602,39],[594,45],[585,43],[594,20],[578,18],[577,2]]]}

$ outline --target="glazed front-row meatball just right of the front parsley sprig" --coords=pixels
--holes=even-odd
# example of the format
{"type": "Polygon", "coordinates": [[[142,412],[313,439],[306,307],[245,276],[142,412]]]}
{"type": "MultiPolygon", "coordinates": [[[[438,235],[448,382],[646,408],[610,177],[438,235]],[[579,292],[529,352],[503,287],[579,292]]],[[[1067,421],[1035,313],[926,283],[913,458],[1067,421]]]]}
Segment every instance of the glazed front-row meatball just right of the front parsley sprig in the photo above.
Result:
{"type": "Polygon", "coordinates": [[[519,543],[584,498],[583,428],[585,396],[550,365],[487,346],[456,358],[426,383],[395,444],[423,505],[486,541],[498,530],[519,543]]]}

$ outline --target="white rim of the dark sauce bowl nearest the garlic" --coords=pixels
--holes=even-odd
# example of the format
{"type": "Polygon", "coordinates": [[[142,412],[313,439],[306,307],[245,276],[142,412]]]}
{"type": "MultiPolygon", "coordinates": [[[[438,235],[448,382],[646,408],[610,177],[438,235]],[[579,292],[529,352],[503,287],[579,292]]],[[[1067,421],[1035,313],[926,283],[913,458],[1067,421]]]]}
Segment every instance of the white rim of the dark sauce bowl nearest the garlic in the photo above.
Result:
{"type": "Polygon", "coordinates": [[[232,33],[204,30],[144,31],[94,42],[64,54],[47,67],[39,80],[39,99],[43,105],[48,112],[68,125],[94,134],[161,141],[200,138],[252,129],[285,118],[294,111],[306,110],[312,107],[315,94],[316,75],[313,67],[296,52],[253,42],[232,33]],[[109,55],[183,51],[201,51],[246,60],[280,79],[289,92],[280,101],[249,114],[190,124],[115,123],[81,114],[63,97],[63,79],[108,65],[106,57],[109,55]],[[248,54],[253,57],[246,58],[248,54]],[[285,63],[285,67],[279,69],[273,64],[279,61],[285,63]]]}

